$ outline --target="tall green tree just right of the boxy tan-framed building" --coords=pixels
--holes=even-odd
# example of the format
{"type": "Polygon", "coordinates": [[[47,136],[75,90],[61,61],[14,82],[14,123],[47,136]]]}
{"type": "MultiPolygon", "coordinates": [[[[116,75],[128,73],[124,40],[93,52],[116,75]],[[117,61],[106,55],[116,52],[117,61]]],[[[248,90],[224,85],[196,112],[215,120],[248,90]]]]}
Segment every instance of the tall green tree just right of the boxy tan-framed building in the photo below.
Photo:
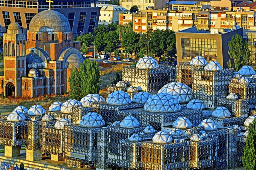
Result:
{"type": "Polygon", "coordinates": [[[229,68],[234,68],[235,71],[238,71],[243,65],[252,65],[248,43],[241,36],[238,34],[232,36],[231,41],[228,42],[228,47],[230,59],[227,65],[229,68]]]}

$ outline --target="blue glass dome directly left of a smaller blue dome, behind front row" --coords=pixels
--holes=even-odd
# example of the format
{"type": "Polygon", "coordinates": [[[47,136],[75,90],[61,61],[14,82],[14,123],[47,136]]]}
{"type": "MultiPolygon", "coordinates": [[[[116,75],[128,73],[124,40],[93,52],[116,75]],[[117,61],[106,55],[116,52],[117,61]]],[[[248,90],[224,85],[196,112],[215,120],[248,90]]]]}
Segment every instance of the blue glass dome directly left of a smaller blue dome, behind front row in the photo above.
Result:
{"type": "Polygon", "coordinates": [[[107,98],[109,105],[128,105],[131,104],[130,96],[124,91],[114,91],[107,98]]]}

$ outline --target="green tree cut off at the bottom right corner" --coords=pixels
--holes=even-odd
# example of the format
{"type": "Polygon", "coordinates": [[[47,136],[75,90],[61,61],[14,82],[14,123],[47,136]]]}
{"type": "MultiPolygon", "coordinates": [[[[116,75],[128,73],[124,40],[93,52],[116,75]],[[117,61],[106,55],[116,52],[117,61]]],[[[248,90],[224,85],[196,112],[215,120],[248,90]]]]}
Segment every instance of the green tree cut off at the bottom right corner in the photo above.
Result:
{"type": "Polygon", "coordinates": [[[256,170],[256,119],[249,125],[242,158],[245,170],[256,170]]]}

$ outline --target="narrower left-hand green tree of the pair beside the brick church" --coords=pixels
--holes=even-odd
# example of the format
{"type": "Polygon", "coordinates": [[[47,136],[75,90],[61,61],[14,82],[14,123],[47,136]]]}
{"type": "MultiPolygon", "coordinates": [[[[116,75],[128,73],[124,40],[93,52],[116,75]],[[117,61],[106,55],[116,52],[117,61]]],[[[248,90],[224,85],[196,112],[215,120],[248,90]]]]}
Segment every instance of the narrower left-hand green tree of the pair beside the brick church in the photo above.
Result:
{"type": "Polygon", "coordinates": [[[69,77],[69,85],[70,85],[70,97],[72,99],[76,99],[76,100],[81,100],[81,79],[80,79],[80,74],[78,69],[75,67],[73,68],[72,72],[71,72],[71,76],[69,77]]]}

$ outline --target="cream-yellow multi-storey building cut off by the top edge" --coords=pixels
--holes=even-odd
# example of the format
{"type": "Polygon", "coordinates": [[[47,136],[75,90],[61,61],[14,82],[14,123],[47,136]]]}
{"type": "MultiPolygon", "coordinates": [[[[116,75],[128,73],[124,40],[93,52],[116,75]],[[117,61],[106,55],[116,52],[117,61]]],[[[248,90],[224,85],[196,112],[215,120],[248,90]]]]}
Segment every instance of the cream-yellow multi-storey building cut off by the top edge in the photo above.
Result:
{"type": "Polygon", "coordinates": [[[139,11],[146,9],[162,9],[168,0],[120,0],[119,5],[130,10],[132,6],[137,6],[139,11]]]}

